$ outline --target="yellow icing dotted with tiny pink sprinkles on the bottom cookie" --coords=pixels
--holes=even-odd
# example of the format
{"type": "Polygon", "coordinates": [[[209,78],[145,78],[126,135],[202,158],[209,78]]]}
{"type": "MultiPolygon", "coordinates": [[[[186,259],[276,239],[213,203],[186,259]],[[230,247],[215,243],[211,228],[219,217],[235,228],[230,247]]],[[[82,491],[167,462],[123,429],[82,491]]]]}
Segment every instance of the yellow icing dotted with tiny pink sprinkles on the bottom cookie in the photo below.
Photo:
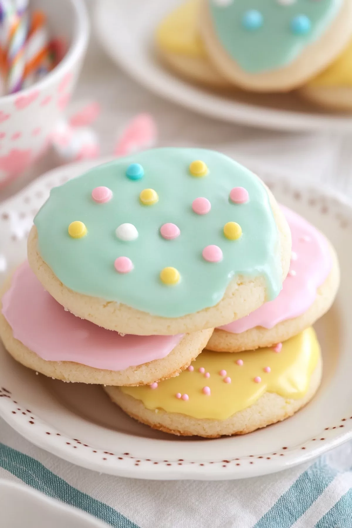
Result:
{"type": "Polygon", "coordinates": [[[261,348],[238,354],[204,351],[192,365],[194,371],[185,370],[176,378],[161,381],[156,389],[149,385],[121,387],[121,391],[141,400],[147,409],[163,409],[193,418],[225,420],[246,407],[250,407],[265,392],[274,392],[288,399],[300,399],[306,394],[310,376],[317,366],[320,346],[312,327],[282,344],[280,353],[272,348],[261,348]],[[243,360],[243,365],[236,364],[243,360]],[[269,373],[264,368],[269,366],[269,373]],[[198,371],[204,367],[204,373],[198,371]],[[225,383],[226,371],[231,383],[225,383]],[[205,373],[210,373],[210,378],[205,373]],[[254,378],[260,376],[261,382],[254,378]],[[203,387],[211,395],[203,393],[203,387]],[[188,394],[185,401],[176,394],[188,394]]]}

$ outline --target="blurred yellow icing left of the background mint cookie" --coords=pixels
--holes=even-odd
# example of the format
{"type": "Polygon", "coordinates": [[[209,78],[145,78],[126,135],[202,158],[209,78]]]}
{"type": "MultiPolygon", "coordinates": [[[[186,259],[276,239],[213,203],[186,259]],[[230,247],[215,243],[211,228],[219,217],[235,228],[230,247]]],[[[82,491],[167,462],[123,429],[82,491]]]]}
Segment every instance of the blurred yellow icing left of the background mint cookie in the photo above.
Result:
{"type": "Polygon", "coordinates": [[[161,50],[196,57],[206,56],[197,31],[198,8],[199,0],[189,0],[160,23],[156,42],[161,50]]]}

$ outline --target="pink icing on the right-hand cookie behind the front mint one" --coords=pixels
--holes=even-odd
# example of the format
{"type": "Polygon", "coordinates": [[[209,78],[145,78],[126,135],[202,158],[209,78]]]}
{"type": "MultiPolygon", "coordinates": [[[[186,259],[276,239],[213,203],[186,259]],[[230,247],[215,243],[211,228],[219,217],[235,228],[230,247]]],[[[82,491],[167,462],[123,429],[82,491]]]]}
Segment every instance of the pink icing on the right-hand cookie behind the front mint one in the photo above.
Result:
{"type": "Polygon", "coordinates": [[[278,297],[233,323],[220,326],[240,334],[255,326],[273,328],[281,321],[308,310],[331,270],[331,256],[325,237],[307,220],[281,205],[292,234],[293,263],[278,297]]]}

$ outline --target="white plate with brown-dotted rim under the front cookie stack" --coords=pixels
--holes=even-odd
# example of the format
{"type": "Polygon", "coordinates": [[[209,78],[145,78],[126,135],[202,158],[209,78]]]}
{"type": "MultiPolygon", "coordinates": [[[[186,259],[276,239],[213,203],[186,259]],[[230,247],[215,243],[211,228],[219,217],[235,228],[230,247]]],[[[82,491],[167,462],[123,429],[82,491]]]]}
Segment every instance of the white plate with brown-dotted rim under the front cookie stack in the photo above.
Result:
{"type": "MultiPolygon", "coordinates": [[[[9,267],[25,258],[25,234],[49,189],[97,163],[55,169],[1,205],[0,253],[9,267]]],[[[302,463],[352,438],[351,205],[321,188],[297,188],[288,180],[260,175],[280,202],[327,234],[341,263],[337,300],[316,325],[324,377],[306,408],[250,435],[217,440],[177,438],[127,417],[99,386],[35,375],[0,346],[0,415],[9,425],[74,464],[102,473],[153,479],[263,475],[302,463]]]]}

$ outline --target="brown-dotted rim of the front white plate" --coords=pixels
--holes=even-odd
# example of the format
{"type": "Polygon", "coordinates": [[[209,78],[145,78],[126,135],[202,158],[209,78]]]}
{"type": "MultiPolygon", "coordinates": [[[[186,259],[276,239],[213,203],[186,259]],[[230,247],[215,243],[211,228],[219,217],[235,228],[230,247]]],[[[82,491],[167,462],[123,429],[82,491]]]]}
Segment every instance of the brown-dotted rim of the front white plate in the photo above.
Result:
{"type": "MultiPolygon", "coordinates": [[[[77,176],[93,165],[105,161],[108,159],[95,163],[74,164],[70,166],[70,177],[77,176]]],[[[263,178],[274,193],[277,192],[280,196],[288,195],[291,202],[304,202],[305,206],[315,209],[318,214],[327,215],[337,229],[345,231],[351,228],[351,204],[338,193],[324,191],[321,188],[319,191],[317,188],[298,189],[289,180],[282,179],[274,172],[261,174],[255,164],[251,168],[263,178]]],[[[50,189],[68,179],[67,169],[66,171],[63,168],[54,169],[0,206],[0,279],[2,275],[5,276],[7,269],[19,263],[13,258],[14,244],[17,253],[18,246],[21,246],[23,258],[25,257],[26,237],[33,216],[49,196],[50,189]],[[3,267],[1,267],[2,258],[6,260],[6,266],[3,267]]],[[[319,456],[352,437],[351,406],[351,416],[344,416],[335,423],[327,424],[319,434],[302,444],[282,446],[274,452],[256,455],[249,453],[227,459],[214,457],[204,461],[193,461],[185,457],[166,460],[155,456],[142,458],[138,457],[136,452],[119,452],[118,448],[115,452],[105,451],[85,443],[84,438],[69,438],[43,421],[36,415],[35,410],[27,408],[25,402],[17,400],[16,391],[12,386],[2,386],[0,389],[0,416],[28,440],[66,460],[100,472],[137,478],[229,479],[271,473],[319,456]],[[271,469],[271,466],[275,467],[271,469]],[[168,476],[168,473],[172,473],[172,476],[168,476]]],[[[170,437],[170,440],[172,439],[170,437]]],[[[235,437],[233,439],[235,440],[235,437]]],[[[217,440],[210,441],[217,442],[217,440]]],[[[182,451],[182,443],[179,446],[178,451],[182,451]]],[[[235,452],[235,448],[233,451],[235,452]]]]}

